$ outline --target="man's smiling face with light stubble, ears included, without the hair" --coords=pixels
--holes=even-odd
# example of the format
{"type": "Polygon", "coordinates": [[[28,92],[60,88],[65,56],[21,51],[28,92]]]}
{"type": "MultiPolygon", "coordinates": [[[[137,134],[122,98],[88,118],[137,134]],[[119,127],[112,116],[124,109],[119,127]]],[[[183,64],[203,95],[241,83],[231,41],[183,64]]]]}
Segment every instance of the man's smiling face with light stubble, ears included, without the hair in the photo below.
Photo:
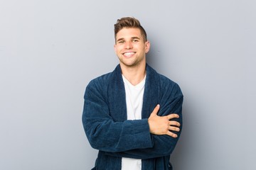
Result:
{"type": "Polygon", "coordinates": [[[135,67],[146,62],[149,47],[149,41],[144,42],[139,28],[122,28],[116,35],[114,51],[122,66],[135,67]]]}

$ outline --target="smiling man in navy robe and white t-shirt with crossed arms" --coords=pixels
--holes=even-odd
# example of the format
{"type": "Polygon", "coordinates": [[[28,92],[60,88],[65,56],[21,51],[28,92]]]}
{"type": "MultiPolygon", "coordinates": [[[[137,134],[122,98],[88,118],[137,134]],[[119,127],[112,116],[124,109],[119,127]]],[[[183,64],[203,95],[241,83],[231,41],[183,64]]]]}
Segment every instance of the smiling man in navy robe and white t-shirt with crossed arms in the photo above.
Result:
{"type": "Polygon", "coordinates": [[[146,64],[150,42],[135,18],[114,25],[113,72],[90,81],[82,123],[99,150],[99,170],[164,170],[181,134],[183,95],[178,84],[146,64]]]}

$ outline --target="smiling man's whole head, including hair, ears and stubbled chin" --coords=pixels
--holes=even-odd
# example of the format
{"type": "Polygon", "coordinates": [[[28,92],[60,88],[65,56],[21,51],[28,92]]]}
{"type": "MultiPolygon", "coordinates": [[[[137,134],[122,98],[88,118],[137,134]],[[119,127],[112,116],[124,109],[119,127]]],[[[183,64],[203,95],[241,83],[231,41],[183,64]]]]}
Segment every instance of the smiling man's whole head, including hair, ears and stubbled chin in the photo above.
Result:
{"type": "Polygon", "coordinates": [[[146,32],[135,18],[121,18],[114,25],[114,51],[121,67],[145,67],[150,42],[146,32]]]}

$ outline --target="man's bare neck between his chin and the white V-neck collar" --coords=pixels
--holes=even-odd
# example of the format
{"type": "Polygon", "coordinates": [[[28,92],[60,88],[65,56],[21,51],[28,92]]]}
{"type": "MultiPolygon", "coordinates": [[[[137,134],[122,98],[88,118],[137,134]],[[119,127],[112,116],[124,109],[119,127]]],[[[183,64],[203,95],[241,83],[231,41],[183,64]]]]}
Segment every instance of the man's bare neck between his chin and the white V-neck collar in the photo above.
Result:
{"type": "Polygon", "coordinates": [[[134,86],[139,84],[146,76],[146,63],[135,67],[127,67],[122,64],[120,66],[125,79],[134,86]]]}

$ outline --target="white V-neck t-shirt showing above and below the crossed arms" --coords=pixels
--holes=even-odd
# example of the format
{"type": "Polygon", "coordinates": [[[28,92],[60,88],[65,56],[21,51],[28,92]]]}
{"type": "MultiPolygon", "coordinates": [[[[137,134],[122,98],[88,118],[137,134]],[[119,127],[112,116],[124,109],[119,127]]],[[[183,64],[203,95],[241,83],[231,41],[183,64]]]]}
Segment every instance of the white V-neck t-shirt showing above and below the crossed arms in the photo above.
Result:
{"type": "MultiPolygon", "coordinates": [[[[142,119],[142,103],[144,95],[144,79],[136,86],[132,85],[124,76],[124,89],[127,103],[127,120],[142,119]]],[[[122,158],[122,170],[142,170],[142,159],[122,158]]]]}

